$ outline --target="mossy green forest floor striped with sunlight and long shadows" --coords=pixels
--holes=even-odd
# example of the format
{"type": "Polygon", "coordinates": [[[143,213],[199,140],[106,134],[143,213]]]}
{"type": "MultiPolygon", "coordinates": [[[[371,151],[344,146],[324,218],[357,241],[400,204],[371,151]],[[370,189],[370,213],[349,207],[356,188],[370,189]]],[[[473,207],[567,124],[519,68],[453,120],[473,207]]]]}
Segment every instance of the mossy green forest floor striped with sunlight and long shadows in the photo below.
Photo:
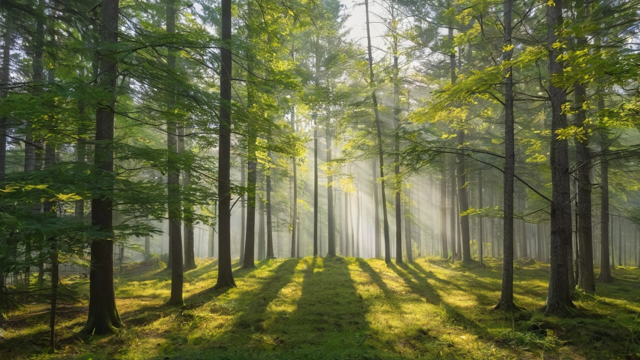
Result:
{"type": "MultiPolygon", "coordinates": [[[[501,263],[429,258],[270,259],[243,270],[237,288],[211,290],[215,260],[185,273],[186,306],[166,307],[170,273],[134,264],[116,279],[126,328],[83,338],[88,281],[63,280],[56,354],[47,354],[48,307],[30,299],[6,314],[0,359],[640,359],[640,270],[617,268],[596,295],[577,293],[568,318],[541,313],[548,265],[518,261],[515,299],[494,311],[501,263]]],[[[160,264],[163,266],[162,264],[160,264]]]]}

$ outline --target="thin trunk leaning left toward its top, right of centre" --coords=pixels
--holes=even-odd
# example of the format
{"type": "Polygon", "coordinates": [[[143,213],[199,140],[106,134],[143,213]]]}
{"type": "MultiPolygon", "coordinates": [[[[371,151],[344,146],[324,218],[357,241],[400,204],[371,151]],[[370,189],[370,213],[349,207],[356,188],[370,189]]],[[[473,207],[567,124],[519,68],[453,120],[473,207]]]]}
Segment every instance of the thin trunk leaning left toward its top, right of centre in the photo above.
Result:
{"type": "Polygon", "coordinates": [[[376,83],[373,75],[373,56],[371,51],[371,30],[369,29],[369,0],[364,1],[367,21],[367,53],[369,54],[369,86],[371,87],[371,99],[373,113],[376,119],[376,133],[378,134],[378,158],[380,161],[380,190],[382,195],[382,219],[385,231],[385,263],[391,263],[391,249],[389,240],[389,222],[387,217],[387,195],[385,195],[385,154],[382,150],[382,129],[380,113],[378,112],[378,98],[376,97],[376,83]]]}

